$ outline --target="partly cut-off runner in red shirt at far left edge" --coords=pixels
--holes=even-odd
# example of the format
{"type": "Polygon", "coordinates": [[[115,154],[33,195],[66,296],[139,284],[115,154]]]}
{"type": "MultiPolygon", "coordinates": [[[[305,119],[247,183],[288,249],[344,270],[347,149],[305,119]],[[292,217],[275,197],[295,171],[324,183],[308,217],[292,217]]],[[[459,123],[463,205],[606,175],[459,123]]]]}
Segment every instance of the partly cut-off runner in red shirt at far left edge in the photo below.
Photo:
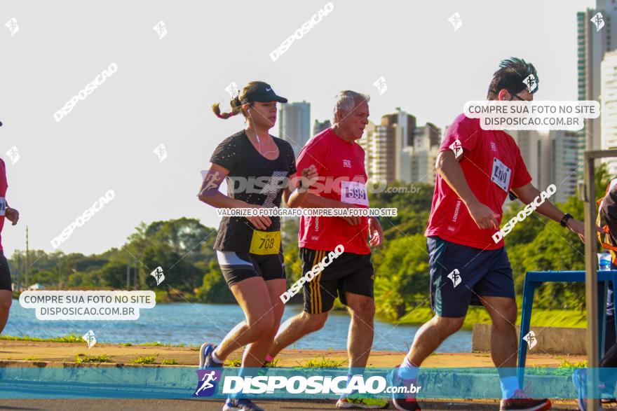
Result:
{"type": "MultiPolygon", "coordinates": [[[[0,127],[2,123],[0,122],[0,127]]],[[[19,211],[8,207],[6,202],[6,189],[8,184],[6,183],[6,165],[4,160],[0,159],[0,232],[4,227],[4,218],[8,218],[13,225],[17,224],[19,220],[19,211]]],[[[8,270],[8,262],[4,256],[4,249],[2,248],[0,240],[0,333],[6,326],[8,320],[8,311],[11,309],[11,302],[13,302],[13,287],[11,284],[11,272],[8,270]]]]}

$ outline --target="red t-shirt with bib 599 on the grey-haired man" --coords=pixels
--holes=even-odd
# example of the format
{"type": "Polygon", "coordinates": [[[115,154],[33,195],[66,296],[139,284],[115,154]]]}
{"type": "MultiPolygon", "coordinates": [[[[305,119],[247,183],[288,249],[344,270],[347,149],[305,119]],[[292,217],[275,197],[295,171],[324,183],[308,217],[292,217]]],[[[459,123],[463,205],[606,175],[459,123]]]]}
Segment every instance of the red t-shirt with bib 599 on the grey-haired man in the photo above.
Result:
{"type": "MultiPolygon", "coordinates": [[[[320,132],[306,142],[296,160],[298,174],[310,165],[320,177],[310,193],[367,208],[367,174],[364,150],[357,143],[338,137],[332,129],[320,132]]],[[[346,253],[369,254],[368,218],[350,225],[340,217],[300,217],[298,244],[306,249],[332,251],[342,244],[346,253]]]]}

